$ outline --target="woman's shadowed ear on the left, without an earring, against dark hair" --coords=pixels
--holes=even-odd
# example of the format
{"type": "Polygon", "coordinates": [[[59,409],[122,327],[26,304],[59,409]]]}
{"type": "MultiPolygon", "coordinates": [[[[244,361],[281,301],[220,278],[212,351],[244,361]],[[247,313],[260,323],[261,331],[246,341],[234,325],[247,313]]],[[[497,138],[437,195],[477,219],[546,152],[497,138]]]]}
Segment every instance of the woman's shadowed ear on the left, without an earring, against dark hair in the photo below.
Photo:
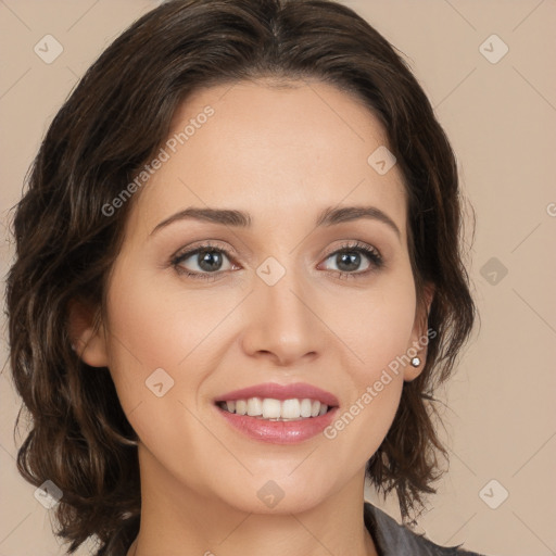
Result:
{"type": "Polygon", "coordinates": [[[106,367],[109,363],[105,330],[98,308],[73,300],[68,307],[68,334],[72,349],[91,367],[106,367]]]}

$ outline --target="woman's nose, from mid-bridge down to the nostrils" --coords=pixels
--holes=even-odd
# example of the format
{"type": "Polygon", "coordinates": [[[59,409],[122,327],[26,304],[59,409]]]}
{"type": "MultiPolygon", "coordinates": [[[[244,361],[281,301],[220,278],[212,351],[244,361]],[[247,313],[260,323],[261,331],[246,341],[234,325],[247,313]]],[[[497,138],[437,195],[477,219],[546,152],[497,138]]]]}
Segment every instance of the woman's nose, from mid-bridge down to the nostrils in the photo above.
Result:
{"type": "Polygon", "coordinates": [[[289,270],[274,286],[257,278],[244,307],[244,352],[278,366],[318,357],[325,345],[326,327],[317,316],[315,295],[309,291],[289,270]]]}

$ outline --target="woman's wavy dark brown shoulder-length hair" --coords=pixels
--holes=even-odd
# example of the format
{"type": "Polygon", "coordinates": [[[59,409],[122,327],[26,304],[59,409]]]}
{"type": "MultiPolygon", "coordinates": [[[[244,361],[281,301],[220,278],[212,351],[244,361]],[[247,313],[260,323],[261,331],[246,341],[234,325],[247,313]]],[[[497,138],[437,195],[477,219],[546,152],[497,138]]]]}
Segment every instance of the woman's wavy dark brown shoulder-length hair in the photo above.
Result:
{"type": "Polygon", "coordinates": [[[51,480],[62,490],[58,534],[71,553],[96,535],[99,555],[124,555],[140,516],[137,437],[109,370],[83,363],[67,330],[73,300],[103,307],[134,199],[110,216],[103,207],[167,139],[175,110],[191,92],[263,77],[331,84],[384,126],[405,179],[420,305],[424,285],[435,287],[428,315],[435,337],[424,371],[404,383],[367,476],[382,492],[395,490],[404,517],[434,492],[437,455],[445,450],[431,395],[468,339],[475,305],[460,249],[455,157],[425,92],[389,42],[339,3],[174,0],[132,24],[88,70],[50,125],[14,217],[11,367],[30,430],[17,466],[33,484],[51,480]]]}

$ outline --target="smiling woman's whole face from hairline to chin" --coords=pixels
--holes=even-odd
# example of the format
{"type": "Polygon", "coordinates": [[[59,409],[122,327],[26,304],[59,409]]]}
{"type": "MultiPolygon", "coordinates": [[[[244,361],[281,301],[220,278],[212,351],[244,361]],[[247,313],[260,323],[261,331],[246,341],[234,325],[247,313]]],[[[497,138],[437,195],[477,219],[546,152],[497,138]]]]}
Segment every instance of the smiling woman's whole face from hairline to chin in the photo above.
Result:
{"type": "Polygon", "coordinates": [[[268,481],[285,493],[276,510],[299,511],[363,477],[419,372],[393,362],[426,332],[402,175],[368,162],[387,144],[379,121],[331,86],[293,85],[213,87],[175,114],[83,353],[110,368],[143,473],[254,513],[270,511],[268,481]],[[298,414],[216,403],[241,413],[256,397],[251,413],[298,414]]]}

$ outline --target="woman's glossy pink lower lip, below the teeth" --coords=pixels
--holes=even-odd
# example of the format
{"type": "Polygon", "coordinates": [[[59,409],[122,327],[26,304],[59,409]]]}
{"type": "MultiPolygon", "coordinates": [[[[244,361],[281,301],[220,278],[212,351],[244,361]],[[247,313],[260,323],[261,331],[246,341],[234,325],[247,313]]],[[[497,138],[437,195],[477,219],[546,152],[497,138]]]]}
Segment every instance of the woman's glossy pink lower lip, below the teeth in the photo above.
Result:
{"type": "Polygon", "coordinates": [[[296,444],[323,432],[334,419],[338,407],[318,417],[299,421],[268,421],[249,415],[237,415],[216,406],[218,413],[236,429],[251,439],[273,444],[296,444]]]}

